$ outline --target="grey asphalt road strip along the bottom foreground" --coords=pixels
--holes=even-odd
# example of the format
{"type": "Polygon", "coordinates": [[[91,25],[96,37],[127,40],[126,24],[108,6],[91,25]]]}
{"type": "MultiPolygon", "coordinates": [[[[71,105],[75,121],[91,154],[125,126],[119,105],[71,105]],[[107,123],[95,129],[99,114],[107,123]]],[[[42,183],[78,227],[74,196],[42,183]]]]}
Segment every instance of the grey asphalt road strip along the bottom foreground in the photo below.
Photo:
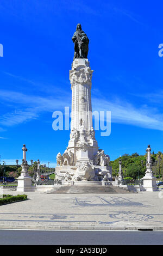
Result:
{"type": "Polygon", "coordinates": [[[0,230],[0,245],[163,245],[163,231],[0,230]]]}

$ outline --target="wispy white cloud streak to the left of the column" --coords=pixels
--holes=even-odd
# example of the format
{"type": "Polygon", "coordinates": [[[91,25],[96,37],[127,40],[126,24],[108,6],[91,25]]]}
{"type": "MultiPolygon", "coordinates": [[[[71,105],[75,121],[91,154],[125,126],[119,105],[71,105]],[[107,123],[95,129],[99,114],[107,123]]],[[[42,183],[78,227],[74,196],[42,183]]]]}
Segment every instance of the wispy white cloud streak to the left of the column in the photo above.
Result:
{"type": "Polygon", "coordinates": [[[16,111],[3,114],[0,117],[0,124],[3,126],[21,124],[39,118],[39,115],[43,112],[53,113],[65,106],[71,106],[71,96],[67,97],[64,92],[55,97],[41,97],[0,90],[1,98],[12,103],[13,108],[17,108],[16,111]]]}

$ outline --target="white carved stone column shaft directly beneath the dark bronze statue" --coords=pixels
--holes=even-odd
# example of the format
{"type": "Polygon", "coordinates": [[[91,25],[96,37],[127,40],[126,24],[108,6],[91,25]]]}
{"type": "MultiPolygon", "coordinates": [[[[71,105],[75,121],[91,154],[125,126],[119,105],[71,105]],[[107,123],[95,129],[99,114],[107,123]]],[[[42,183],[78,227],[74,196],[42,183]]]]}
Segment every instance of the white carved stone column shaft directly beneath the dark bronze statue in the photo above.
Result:
{"type": "Polygon", "coordinates": [[[88,59],[74,59],[70,70],[72,89],[71,133],[68,149],[74,162],[91,162],[98,151],[92,127],[92,73],[88,59]]]}

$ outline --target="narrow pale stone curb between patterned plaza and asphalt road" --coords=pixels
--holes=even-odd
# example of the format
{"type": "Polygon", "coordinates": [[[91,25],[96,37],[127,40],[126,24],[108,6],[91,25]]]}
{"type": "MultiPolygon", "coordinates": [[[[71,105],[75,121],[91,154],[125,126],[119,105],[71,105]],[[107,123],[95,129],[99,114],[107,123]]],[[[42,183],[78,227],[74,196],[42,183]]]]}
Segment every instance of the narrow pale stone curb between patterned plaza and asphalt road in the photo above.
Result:
{"type": "Polygon", "coordinates": [[[26,230],[101,230],[101,231],[163,231],[163,227],[77,227],[77,226],[32,226],[32,225],[0,225],[1,229],[26,230]]]}

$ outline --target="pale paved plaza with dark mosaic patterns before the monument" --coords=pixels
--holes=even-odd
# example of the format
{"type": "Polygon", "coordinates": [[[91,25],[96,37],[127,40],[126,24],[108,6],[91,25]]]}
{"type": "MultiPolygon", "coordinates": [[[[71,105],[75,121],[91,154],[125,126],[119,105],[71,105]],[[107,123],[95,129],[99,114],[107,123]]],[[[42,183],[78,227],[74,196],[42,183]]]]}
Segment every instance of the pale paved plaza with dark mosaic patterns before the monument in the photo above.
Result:
{"type": "MultiPolygon", "coordinates": [[[[4,193],[23,194],[7,189],[4,193]]],[[[0,206],[1,229],[163,230],[160,192],[24,193],[28,200],[0,206]]]]}

